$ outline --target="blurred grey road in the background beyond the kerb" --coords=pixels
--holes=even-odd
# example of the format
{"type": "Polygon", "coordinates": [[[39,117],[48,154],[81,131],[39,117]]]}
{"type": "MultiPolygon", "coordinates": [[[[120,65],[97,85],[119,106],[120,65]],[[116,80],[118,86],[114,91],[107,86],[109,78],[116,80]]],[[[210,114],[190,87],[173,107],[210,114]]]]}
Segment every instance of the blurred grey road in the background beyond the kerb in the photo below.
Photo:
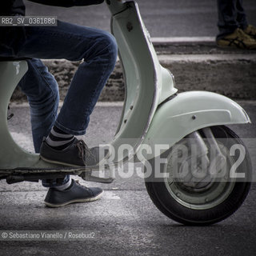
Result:
{"type": "MultiPolygon", "coordinates": [[[[110,13],[105,3],[85,7],[53,7],[26,2],[28,15],[54,15],[64,22],[94,26],[110,31],[110,13]]],[[[217,1],[138,0],[142,18],[152,37],[214,37],[217,28],[217,1]]],[[[248,22],[256,26],[256,2],[245,0],[248,22]]]]}

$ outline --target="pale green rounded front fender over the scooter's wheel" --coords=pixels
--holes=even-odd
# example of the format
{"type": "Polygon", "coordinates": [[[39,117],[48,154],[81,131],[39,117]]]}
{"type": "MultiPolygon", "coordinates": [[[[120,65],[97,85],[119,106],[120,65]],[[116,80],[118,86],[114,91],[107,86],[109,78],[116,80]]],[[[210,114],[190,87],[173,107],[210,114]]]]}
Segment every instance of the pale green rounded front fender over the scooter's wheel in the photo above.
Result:
{"type": "Polygon", "coordinates": [[[230,98],[206,91],[185,92],[158,106],[142,144],[151,149],[146,158],[155,158],[160,154],[155,145],[164,144],[167,150],[195,130],[249,122],[246,111],[230,98]]]}

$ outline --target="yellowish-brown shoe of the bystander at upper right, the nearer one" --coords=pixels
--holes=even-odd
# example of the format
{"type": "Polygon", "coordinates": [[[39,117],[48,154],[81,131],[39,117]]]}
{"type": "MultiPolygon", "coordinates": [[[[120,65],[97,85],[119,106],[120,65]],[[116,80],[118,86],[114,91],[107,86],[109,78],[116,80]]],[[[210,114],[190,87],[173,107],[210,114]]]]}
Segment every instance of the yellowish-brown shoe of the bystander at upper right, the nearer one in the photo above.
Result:
{"type": "Polygon", "coordinates": [[[217,45],[220,47],[253,50],[256,49],[256,40],[243,32],[243,30],[237,28],[232,34],[228,34],[226,37],[218,39],[217,45]]]}

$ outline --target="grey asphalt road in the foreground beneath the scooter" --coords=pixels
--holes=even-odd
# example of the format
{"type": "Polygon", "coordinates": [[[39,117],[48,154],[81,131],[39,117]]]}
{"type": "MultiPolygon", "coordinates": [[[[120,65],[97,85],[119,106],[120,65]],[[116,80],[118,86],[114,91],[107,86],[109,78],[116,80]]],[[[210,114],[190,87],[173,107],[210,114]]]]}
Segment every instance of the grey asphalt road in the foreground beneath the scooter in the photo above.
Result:
{"type": "MultiPolygon", "coordinates": [[[[244,138],[256,166],[256,102],[240,102],[253,124],[233,126],[244,138]]],[[[97,106],[86,134],[90,146],[114,136],[122,107],[97,106]]],[[[33,150],[29,110],[15,106],[10,131],[26,150],[33,150]]],[[[80,179],[81,180],[81,179],[80,179]]],[[[82,184],[96,186],[94,183],[82,184]]],[[[0,255],[254,255],[256,254],[256,186],[242,207],[230,218],[213,226],[182,226],[166,218],[150,201],[142,178],[117,177],[103,185],[99,201],[61,209],[43,205],[46,188],[23,182],[0,181],[0,230],[56,230],[91,233],[85,241],[0,242],[0,255]]]]}

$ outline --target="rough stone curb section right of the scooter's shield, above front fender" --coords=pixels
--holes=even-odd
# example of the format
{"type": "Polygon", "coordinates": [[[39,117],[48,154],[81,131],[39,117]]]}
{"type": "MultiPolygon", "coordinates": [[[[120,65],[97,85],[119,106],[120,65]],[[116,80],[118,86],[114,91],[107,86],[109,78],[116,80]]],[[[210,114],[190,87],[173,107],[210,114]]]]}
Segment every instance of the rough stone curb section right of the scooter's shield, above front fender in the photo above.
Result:
{"type": "Polygon", "coordinates": [[[209,90],[234,99],[256,99],[256,55],[158,55],[180,92],[209,90]]]}

